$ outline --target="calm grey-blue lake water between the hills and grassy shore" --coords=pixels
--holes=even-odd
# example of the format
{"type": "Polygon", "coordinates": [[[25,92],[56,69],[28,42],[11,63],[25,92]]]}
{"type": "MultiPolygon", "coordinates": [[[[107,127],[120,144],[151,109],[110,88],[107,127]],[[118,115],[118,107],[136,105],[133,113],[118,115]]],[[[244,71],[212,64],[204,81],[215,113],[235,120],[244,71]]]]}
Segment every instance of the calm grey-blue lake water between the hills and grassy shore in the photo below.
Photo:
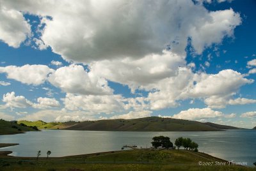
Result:
{"type": "Polygon", "coordinates": [[[256,130],[186,131],[186,132],[131,132],[131,131],[70,131],[43,130],[17,135],[0,135],[0,143],[19,143],[4,147],[1,151],[13,151],[13,156],[70,156],[102,151],[120,150],[125,144],[150,147],[152,137],[189,137],[199,145],[199,151],[231,161],[244,161],[252,165],[256,161],[256,130]]]}

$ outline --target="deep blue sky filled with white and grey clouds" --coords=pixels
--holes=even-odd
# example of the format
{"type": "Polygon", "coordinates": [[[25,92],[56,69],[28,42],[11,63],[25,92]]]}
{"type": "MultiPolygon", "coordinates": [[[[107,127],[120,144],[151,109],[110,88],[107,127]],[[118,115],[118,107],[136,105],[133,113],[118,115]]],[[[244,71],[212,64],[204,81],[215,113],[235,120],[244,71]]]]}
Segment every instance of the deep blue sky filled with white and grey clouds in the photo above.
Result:
{"type": "Polygon", "coordinates": [[[256,1],[0,0],[0,118],[256,126],[256,1]]]}

